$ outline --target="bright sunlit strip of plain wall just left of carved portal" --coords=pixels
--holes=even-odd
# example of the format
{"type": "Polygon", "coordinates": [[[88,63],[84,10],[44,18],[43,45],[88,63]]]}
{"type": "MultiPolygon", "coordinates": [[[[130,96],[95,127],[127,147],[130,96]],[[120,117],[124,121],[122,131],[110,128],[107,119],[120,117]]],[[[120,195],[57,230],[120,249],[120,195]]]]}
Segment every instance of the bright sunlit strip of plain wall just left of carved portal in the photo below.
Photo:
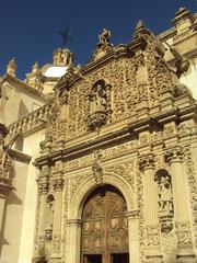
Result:
{"type": "Polygon", "coordinates": [[[19,260],[15,262],[28,263],[33,254],[33,241],[35,231],[36,203],[37,203],[37,173],[33,161],[38,157],[39,142],[44,139],[45,130],[39,130],[24,138],[23,151],[32,156],[32,161],[26,172],[26,190],[24,198],[24,213],[21,227],[21,239],[19,243],[19,260]]]}

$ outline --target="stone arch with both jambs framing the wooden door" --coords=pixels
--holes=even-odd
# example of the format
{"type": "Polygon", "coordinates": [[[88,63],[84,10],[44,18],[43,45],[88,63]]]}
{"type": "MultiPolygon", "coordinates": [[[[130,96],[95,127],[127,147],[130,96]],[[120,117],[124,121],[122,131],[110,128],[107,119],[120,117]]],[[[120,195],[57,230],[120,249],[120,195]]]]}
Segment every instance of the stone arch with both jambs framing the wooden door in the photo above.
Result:
{"type": "MultiPolygon", "coordinates": [[[[128,219],[128,243],[130,262],[139,263],[139,220],[135,195],[130,185],[121,176],[113,173],[105,173],[103,184],[116,187],[126,201],[128,219]]],[[[88,178],[78,187],[76,195],[69,205],[68,210],[68,262],[80,263],[81,259],[81,226],[82,211],[88,196],[97,187],[94,178],[88,178]]]]}

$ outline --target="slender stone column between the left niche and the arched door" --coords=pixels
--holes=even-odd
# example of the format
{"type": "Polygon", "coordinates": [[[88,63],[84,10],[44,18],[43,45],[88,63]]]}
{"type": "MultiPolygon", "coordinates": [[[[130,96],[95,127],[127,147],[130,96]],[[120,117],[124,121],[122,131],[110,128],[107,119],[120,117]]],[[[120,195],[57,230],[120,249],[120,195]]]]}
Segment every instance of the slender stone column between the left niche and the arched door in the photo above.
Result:
{"type": "Polygon", "coordinates": [[[53,249],[51,256],[56,258],[61,252],[61,222],[62,222],[62,190],[63,180],[61,173],[56,174],[53,179],[55,190],[55,207],[54,207],[54,224],[53,224],[53,249]]]}

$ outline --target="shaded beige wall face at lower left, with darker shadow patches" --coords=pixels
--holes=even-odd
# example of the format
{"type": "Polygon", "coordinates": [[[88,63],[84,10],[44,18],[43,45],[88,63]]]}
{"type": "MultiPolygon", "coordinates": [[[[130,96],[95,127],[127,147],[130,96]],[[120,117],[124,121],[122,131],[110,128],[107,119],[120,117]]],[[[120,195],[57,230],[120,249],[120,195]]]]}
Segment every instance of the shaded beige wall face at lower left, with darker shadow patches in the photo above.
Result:
{"type": "Polygon", "coordinates": [[[15,173],[13,178],[13,191],[11,191],[8,196],[2,224],[2,248],[0,254],[0,262],[2,263],[19,262],[19,244],[25,205],[26,173],[28,165],[14,161],[13,167],[15,173]]]}

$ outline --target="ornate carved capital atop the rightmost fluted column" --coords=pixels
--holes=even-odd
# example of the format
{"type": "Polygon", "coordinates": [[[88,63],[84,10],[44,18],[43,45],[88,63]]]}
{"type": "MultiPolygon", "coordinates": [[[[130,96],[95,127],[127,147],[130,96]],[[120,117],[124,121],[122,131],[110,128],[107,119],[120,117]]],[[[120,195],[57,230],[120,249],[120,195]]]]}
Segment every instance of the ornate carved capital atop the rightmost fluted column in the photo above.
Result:
{"type": "Polygon", "coordinates": [[[165,150],[164,157],[165,157],[165,161],[170,163],[182,162],[184,157],[184,151],[181,146],[174,146],[165,150]]]}

